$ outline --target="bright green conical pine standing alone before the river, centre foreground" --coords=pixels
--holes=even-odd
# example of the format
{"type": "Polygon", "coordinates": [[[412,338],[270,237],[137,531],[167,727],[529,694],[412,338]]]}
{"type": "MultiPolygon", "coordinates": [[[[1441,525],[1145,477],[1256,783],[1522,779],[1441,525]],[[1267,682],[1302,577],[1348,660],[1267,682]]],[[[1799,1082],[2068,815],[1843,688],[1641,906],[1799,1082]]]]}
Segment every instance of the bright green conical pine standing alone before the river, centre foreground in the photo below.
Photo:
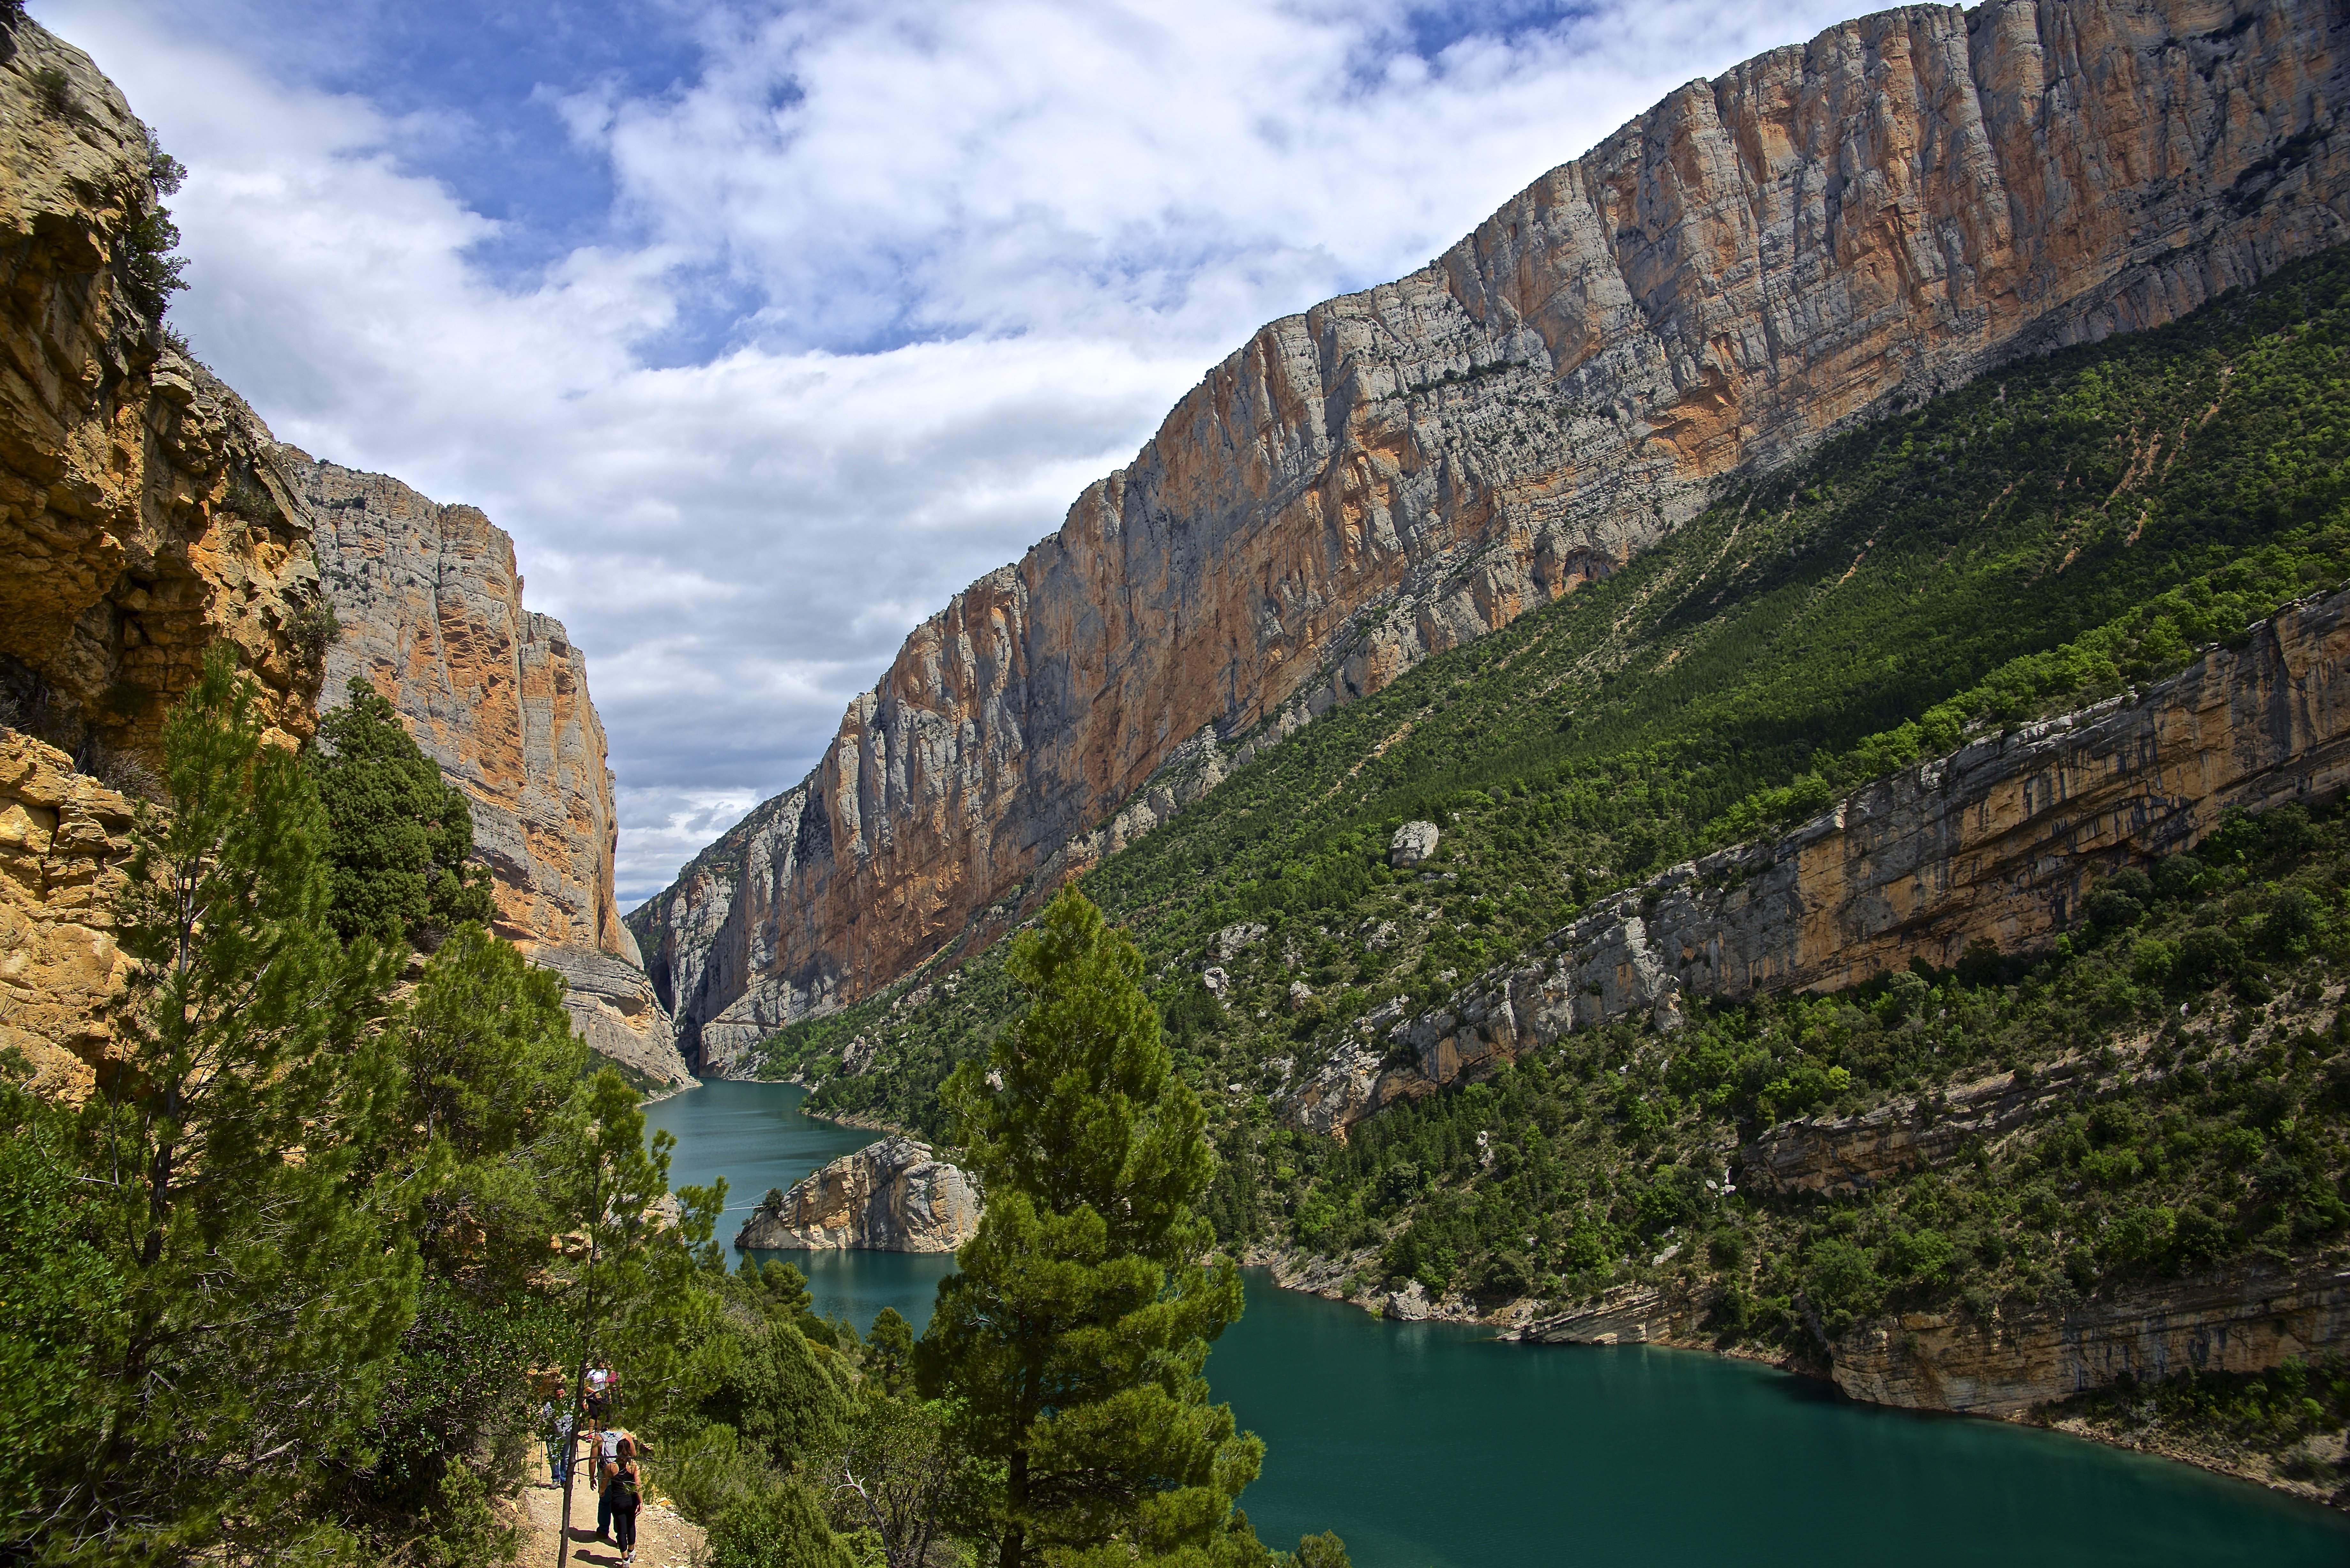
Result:
{"type": "Polygon", "coordinates": [[[924,1394],[996,1462],[1001,1568],[1029,1559],[1264,1561],[1231,1505],[1264,1446],[1208,1403],[1241,1274],[1194,1206],[1215,1171],[1142,957],[1074,889],[1006,964],[1029,1009],[947,1081],[987,1192],[916,1347],[924,1394]]]}

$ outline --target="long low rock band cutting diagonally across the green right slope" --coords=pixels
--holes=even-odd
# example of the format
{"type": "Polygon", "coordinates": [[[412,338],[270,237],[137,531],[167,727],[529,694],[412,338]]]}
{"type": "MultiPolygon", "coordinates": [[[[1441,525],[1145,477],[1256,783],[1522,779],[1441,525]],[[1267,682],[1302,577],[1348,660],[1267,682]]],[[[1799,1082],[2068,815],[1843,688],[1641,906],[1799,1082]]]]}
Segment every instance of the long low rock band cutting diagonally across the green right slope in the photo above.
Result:
{"type": "MultiPolygon", "coordinates": [[[[2287,607],[2242,649],[2214,649],[2136,701],[1976,741],[1784,839],[1676,865],[1551,936],[1537,959],[1480,976],[1384,1041],[1342,1046],[1283,1117],[1344,1135],[1382,1105],[1567,1030],[1626,1013],[1671,1030],[1683,997],[1838,990],[1920,957],[1955,964],[1974,940],[2028,947],[2066,929],[2103,870],[2188,849],[2225,811],[2343,785],[2350,592],[2287,607]],[[1389,1067],[1391,1046],[1410,1060],[1389,1067]]],[[[1791,1182],[1805,1185],[1793,1175],[1805,1161],[1784,1157],[1791,1182]]]]}

